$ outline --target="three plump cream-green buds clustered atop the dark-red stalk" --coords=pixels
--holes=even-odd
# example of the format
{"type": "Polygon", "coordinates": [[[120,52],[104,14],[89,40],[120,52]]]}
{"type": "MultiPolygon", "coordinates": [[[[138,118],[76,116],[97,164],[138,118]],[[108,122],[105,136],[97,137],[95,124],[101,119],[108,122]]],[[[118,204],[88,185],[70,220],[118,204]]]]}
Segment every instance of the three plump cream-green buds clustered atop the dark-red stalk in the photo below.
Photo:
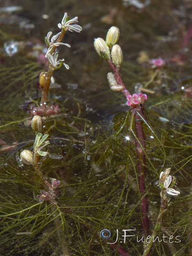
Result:
{"type": "Polygon", "coordinates": [[[108,30],[106,40],[96,38],[94,47],[99,56],[105,59],[108,63],[113,63],[116,68],[120,68],[123,63],[123,52],[121,47],[116,44],[119,39],[119,29],[111,27],[108,30]]]}

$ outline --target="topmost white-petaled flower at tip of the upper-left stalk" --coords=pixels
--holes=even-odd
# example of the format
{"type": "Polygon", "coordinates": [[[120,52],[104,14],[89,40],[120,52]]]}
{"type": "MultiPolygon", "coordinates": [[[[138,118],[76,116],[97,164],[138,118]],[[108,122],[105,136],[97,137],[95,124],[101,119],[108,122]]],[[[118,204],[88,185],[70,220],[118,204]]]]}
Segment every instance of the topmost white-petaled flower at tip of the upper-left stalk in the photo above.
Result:
{"type": "Polygon", "coordinates": [[[71,32],[73,32],[73,31],[81,32],[82,27],[79,25],[76,25],[78,23],[77,16],[68,21],[66,21],[66,19],[67,19],[67,12],[65,12],[61,23],[58,24],[59,28],[65,28],[65,30],[69,30],[71,32]]]}

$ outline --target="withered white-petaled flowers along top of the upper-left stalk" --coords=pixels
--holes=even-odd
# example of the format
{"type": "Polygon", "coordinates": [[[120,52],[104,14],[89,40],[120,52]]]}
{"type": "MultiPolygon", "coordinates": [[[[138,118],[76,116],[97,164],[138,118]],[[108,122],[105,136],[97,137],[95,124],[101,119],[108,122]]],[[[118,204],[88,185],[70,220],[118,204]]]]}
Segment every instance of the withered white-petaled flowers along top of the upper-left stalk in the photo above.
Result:
{"type": "Polygon", "coordinates": [[[48,59],[53,69],[58,69],[62,65],[64,65],[67,69],[69,69],[69,66],[64,63],[64,59],[57,60],[58,52],[55,52],[55,49],[57,46],[60,46],[60,45],[66,45],[68,47],[71,47],[69,44],[61,43],[60,41],[63,38],[65,31],[67,30],[71,32],[73,31],[81,32],[82,28],[79,25],[77,25],[78,23],[77,19],[78,17],[70,19],[70,17],[67,16],[67,12],[65,12],[61,23],[58,24],[58,27],[61,28],[61,32],[52,36],[52,32],[50,31],[48,32],[47,36],[45,36],[45,43],[47,44],[47,47],[48,47],[47,53],[45,54],[45,58],[48,59]],[[52,38],[50,40],[51,36],[52,38]]]}

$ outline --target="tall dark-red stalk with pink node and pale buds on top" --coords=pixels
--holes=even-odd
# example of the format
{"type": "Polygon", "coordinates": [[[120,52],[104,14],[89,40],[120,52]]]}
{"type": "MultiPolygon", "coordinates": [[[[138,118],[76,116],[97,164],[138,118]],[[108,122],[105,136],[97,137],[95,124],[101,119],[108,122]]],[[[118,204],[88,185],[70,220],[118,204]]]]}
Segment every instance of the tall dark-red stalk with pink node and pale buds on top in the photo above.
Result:
{"type": "Polygon", "coordinates": [[[142,108],[144,101],[147,100],[147,95],[142,93],[131,94],[124,85],[121,79],[119,70],[123,63],[123,53],[121,47],[116,44],[119,38],[119,29],[111,27],[108,31],[106,42],[102,38],[97,38],[94,41],[94,47],[99,56],[105,59],[114,72],[108,73],[108,81],[110,88],[116,92],[122,92],[127,98],[127,105],[131,106],[132,117],[135,121],[135,145],[138,160],[138,180],[141,199],[141,226],[144,236],[148,235],[148,200],[145,194],[145,176],[146,176],[146,159],[145,159],[145,136],[143,131],[141,116],[144,116],[142,108]]]}

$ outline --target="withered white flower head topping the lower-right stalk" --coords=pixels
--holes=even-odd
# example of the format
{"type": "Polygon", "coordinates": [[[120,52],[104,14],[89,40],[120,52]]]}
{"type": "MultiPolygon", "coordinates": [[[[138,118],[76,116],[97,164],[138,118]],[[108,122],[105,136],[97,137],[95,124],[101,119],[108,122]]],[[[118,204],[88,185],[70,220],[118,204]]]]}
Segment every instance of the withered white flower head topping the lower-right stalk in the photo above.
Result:
{"type": "Polygon", "coordinates": [[[175,181],[172,182],[172,176],[169,175],[171,168],[161,172],[159,175],[159,186],[162,189],[160,196],[165,199],[167,195],[169,196],[178,196],[180,192],[170,188],[170,185],[173,186],[175,181]]]}

